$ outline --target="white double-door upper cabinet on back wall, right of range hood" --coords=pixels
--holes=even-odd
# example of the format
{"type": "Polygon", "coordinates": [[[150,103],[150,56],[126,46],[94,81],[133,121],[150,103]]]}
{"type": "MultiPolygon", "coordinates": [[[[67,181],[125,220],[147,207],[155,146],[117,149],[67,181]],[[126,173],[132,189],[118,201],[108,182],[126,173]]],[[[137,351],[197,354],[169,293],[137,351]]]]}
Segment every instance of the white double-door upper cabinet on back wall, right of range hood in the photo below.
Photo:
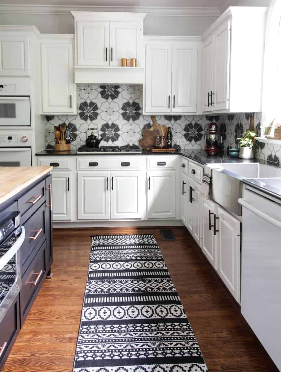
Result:
{"type": "Polygon", "coordinates": [[[196,113],[200,42],[154,40],[145,48],[144,113],[196,113]]]}

